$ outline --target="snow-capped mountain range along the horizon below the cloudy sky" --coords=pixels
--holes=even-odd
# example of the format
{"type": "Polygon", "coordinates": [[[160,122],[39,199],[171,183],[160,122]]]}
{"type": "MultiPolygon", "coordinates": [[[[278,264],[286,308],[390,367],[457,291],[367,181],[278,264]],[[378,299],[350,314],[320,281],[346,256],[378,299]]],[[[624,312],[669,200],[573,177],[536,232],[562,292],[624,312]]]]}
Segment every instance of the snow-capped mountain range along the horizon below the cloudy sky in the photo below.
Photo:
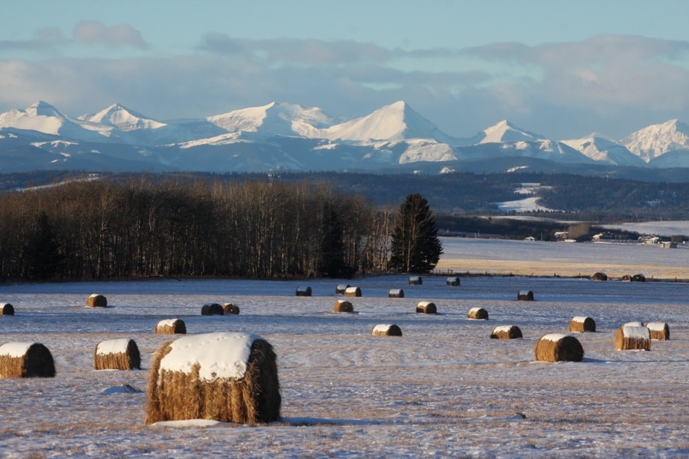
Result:
{"type": "MultiPolygon", "coordinates": [[[[501,160],[564,167],[689,167],[689,126],[670,120],[614,140],[549,140],[506,120],[455,138],[402,101],[353,120],[270,103],[187,120],[153,120],[119,104],[72,118],[40,101],[0,114],[0,171],[436,171],[501,160]]],[[[507,169],[507,166],[505,167],[507,169]]]]}

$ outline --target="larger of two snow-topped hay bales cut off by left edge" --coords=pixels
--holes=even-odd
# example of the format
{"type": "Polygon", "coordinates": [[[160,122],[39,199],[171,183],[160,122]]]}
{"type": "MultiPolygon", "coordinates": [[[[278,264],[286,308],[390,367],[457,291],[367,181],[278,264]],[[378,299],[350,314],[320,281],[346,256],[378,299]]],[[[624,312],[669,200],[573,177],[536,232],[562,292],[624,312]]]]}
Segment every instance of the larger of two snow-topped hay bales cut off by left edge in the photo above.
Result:
{"type": "Polygon", "coordinates": [[[52,378],[55,363],[41,343],[0,345],[0,378],[52,378]]]}

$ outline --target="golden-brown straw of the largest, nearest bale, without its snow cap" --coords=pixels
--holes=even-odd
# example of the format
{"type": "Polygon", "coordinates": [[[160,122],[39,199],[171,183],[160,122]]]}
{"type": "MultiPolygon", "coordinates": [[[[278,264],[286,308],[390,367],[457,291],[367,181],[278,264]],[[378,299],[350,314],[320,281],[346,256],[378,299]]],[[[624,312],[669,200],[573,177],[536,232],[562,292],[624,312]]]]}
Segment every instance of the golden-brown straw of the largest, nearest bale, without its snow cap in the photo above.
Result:
{"type": "MultiPolygon", "coordinates": [[[[196,335],[198,336],[198,335],[196,335]]],[[[187,339],[181,338],[181,340],[187,339]]],[[[161,370],[161,361],[172,352],[172,343],[163,344],[151,363],[147,389],[146,424],[164,420],[212,419],[229,423],[257,424],[280,420],[280,383],[276,355],[264,339],[251,343],[242,377],[200,376],[203,369],[198,361],[191,372],[161,370]]],[[[209,345],[208,354],[222,356],[228,352],[209,345]]],[[[183,351],[183,349],[181,349],[183,351]]]]}

